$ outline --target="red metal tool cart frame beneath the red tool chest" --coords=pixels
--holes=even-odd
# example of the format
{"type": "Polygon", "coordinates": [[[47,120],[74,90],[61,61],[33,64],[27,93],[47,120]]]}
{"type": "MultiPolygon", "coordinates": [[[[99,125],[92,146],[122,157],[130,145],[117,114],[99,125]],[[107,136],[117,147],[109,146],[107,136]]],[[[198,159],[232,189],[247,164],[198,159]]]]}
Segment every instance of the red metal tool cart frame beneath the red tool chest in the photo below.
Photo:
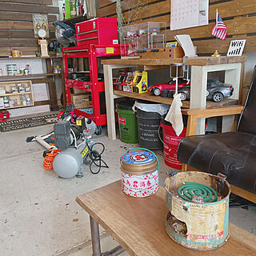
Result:
{"type": "MultiPolygon", "coordinates": [[[[66,103],[70,104],[70,88],[89,91],[92,98],[92,114],[74,110],[77,115],[90,118],[97,126],[106,125],[106,104],[104,82],[98,82],[98,58],[120,55],[120,45],[85,45],[65,47],[62,49],[64,78],[66,85],[66,103]],[[68,58],[88,58],[90,66],[90,82],[67,79],[68,58]]],[[[91,111],[90,111],[91,112],[91,111]]]]}

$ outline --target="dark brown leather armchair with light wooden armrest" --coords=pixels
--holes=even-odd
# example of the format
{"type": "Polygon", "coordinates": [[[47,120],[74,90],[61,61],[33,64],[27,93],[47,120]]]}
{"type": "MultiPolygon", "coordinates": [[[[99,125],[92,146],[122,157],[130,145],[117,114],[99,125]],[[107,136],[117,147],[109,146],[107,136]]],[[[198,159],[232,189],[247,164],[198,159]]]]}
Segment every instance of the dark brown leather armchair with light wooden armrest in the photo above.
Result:
{"type": "Polygon", "coordinates": [[[193,117],[194,113],[195,118],[189,119],[189,125],[192,126],[194,120],[190,130],[195,130],[197,118],[239,114],[241,110],[234,132],[183,138],[178,146],[178,161],[206,173],[225,174],[231,185],[256,194],[256,66],[243,109],[242,106],[229,106],[205,110],[204,114],[204,110],[186,110],[186,114],[193,117]]]}

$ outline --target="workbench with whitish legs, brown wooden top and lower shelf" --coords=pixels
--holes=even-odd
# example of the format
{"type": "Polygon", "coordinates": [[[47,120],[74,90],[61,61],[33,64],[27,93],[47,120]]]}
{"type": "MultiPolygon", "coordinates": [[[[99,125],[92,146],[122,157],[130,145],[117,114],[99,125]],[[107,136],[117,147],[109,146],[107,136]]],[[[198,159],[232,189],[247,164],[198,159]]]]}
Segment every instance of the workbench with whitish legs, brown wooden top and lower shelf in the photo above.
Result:
{"type": "MultiPolygon", "coordinates": [[[[144,99],[152,102],[171,104],[172,98],[156,97],[150,94],[136,94],[113,88],[113,70],[127,67],[137,67],[142,70],[157,70],[170,68],[171,64],[183,63],[183,58],[163,58],[163,59],[107,59],[102,60],[105,81],[106,95],[106,115],[107,130],[110,139],[116,138],[114,119],[114,99],[129,97],[144,99]]],[[[238,57],[194,57],[186,58],[184,64],[191,66],[191,90],[190,101],[182,102],[182,107],[190,109],[219,108],[226,105],[238,104],[240,94],[240,82],[243,77],[243,63],[246,56],[238,57]],[[225,71],[225,82],[234,86],[234,93],[230,98],[216,103],[206,102],[207,74],[214,71],[225,71]]],[[[234,122],[234,116],[223,118],[222,131],[228,131],[234,122]]],[[[197,122],[196,134],[204,134],[205,118],[199,118],[197,122]]]]}

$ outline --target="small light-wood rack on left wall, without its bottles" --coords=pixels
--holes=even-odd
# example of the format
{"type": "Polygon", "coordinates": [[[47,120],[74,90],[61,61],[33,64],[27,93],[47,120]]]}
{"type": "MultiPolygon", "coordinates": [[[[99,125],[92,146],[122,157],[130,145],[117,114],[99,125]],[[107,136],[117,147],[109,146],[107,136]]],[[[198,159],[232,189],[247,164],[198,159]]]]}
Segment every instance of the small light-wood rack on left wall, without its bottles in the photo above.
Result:
{"type": "Polygon", "coordinates": [[[6,90],[5,94],[0,94],[0,98],[4,98],[5,96],[8,96],[10,100],[17,99],[18,106],[10,106],[10,107],[1,107],[0,110],[9,110],[9,109],[15,109],[19,107],[26,107],[26,106],[34,106],[34,97],[33,97],[33,91],[32,91],[32,82],[31,80],[17,80],[17,81],[11,81],[11,82],[0,82],[0,87],[3,87],[4,90],[6,90]],[[24,86],[28,86],[30,88],[29,92],[18,92],[18,93],[12,93],[12,87],[17,86],[18,84],[23,84],[24,86]],[[30,105],[22,105],[22,94],[26,98],[31,99],[31,104],[30,105]]]}

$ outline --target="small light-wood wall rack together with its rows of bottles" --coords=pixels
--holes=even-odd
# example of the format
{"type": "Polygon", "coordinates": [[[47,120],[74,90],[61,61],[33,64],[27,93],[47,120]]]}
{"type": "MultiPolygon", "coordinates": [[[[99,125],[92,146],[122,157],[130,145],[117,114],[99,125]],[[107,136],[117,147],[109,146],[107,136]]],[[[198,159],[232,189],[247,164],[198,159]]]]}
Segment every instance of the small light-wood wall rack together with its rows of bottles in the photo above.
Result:
{"type": "Polygon", "coordinates": [[[0,110],[34,106],[32,82],[0,82],[0,110]]]}

